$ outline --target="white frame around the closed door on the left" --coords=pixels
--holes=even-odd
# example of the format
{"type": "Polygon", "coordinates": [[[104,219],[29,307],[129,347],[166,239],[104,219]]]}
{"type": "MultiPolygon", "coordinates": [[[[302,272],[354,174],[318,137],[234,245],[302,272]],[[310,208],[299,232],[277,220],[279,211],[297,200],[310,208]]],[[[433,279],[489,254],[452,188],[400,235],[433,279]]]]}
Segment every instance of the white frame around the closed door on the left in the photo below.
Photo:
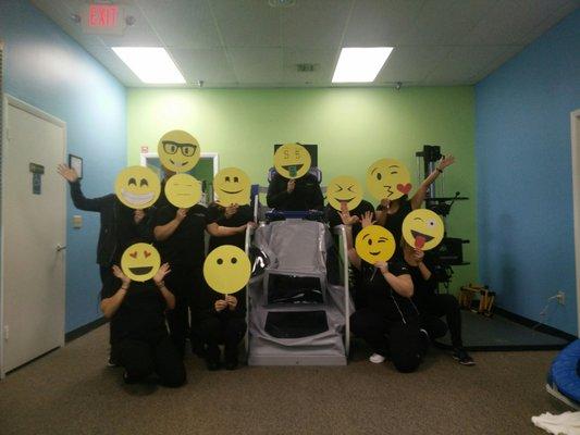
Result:
{"type": "MultiPolygon", "coordinates": [[[[24,112],[27,112],[36,117],[39,117],[44,121],[47,121],[51,124],[54,124],[59,127],[62,127],[63,130],[64,130],[64,137],[63,137],[63,140],[64,140],[64,146],[63,146],[63,156],[62,158],[64,159],[64,157],[66,156],[66,123],[53,115],[51,115],[50,113],[47,113],[38,108],[35,108],[34,105],[30,105],[28,104],[27,102],[24,102],[13,96],[11,96],[10,94],[4,94],[3,95],[3,99],[2,99],[2,120],[0,120],[0,122],[2,122],[2,140],[1,140],[1,146],[2,146],[2,150],[1,150],[1,153],[0,156],[2,157],[1,159],[1,174],[5,174],[5,170],[7,170],[7,166],[8,166],[8,162],[7,162],[7,159],[5,159],[5,147],[8,145],[8,141],[9,141],[9,138],[10,138],[10,130],[8,128],[8,110],[9,110],[9,107],[12,105],[16,109],[20,109],[20,110],[23,110],[24,112]]],[[[50,170],[53,170],[55,171],[54,167],[52,169],[48,169],[49,171],[50,170]]],[[[5,237],[4,237],[4,233],[5,233],[5,227],[4,225],[2,224],[3,222],[3,214],[4,214],[4,202],[2,201],[2,198],[4,197],[4,189],[5,189],[5,184],[3,183],[3,179],[2,179],[2,176],[0,174],[0,184],[1,184],[1,188],[0,188],[0,380],[3,380],[5,377],[5,372],[4,372],[4,261],[2,259],[2,256],[4,253],[4,240],[5,240],[5,237]]],[[[65,191],[65,195],[66,195],[66,191],[65,191]]],[[[67,214],[66,214],[66,196],[65,196],[65,200],[64,200],[64,240],[63,240],[63,244],[64,246],[66,246],[66,222],[67,222],[67,214]]],[[[64,284],[64,288],[63,288],[63,291],[64,291],[64,316],[62,319],[62,325],[61,325],[61,331],[62,331],[62,334],[61,334],[61,340],[60,340],[60,344],[59,344],[59,347],[63,347],[64,346],[64,325],[65,325],[65,322],[66,322],[66,254],[63,256],[63,259],[62,259],[62,266],[64,268],[64,277],[63,277],[63,284],[64,284]]]]}

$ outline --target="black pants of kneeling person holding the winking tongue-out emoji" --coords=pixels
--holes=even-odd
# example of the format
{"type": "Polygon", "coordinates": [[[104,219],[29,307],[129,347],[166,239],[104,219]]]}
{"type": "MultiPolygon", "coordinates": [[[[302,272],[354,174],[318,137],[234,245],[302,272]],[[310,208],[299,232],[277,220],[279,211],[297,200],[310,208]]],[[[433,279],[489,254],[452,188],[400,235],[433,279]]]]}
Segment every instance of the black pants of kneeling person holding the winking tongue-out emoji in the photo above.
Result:
{"type": "Polygon", "coordinates": [[[431,338],[439,338],[445,335],[441,330],[440,319],[445,315],[447,327],[452,336],[453,347],[462,347],[461,339],[461,312],[459,302],[453,295],[431,295],[419,306],[421,312],[421,324],[431,338]]]}

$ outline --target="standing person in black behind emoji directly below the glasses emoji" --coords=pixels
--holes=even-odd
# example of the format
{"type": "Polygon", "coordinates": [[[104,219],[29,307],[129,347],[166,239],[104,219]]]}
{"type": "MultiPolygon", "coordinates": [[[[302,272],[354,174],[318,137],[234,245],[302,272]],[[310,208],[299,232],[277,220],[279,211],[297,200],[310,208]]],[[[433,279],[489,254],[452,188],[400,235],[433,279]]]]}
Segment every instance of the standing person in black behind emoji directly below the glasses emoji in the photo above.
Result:
{"type": "MultiPolygon", "coordinates": [[[[230,237],[244,234],[247,223],[236,226],[220,226],[208,221],[207,209],[196,204],[189,209],[177,209],[166,204],[156,213],[153,234],[156,246],[163,262],[171,264],[168,286],[175,295],[175,309],[168,313],[171,338],[181,355],[185,355],[185,340],[189,334],[194,353],[203,355],[199,335],[189,326],[189,312],[195,315],[194,306],[203,286],[202,268],[206,258],[206,229],[214,237],[230,237]]],[[[192,319],[192,324],[195,324],[192,319]]]]}

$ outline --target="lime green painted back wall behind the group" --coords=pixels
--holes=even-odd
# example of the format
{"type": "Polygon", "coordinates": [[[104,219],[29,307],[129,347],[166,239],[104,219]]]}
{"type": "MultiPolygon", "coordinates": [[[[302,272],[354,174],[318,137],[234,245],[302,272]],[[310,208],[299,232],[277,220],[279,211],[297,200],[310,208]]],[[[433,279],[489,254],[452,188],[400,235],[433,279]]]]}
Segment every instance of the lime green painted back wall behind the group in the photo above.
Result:
{"type": "Polygon", "coordinates": [[[140,147],[155,150],[163,133],[181,128],[202,151],[219,152],[220,167],[239,166],[262,185],[276,142],[318,144],[323,185],[341,174],[365,183],[367,167],[384,157],[407,163],[417,183],[415,152],[440,145],[456,157],[445,194],[470,198],[447,220],[449,236],[471,240],[464,246],[471,265],[455,268],[453,290],[477,281],[472,87],[129,89],[127,121],[129,164],[138,164],[140,147]]]}

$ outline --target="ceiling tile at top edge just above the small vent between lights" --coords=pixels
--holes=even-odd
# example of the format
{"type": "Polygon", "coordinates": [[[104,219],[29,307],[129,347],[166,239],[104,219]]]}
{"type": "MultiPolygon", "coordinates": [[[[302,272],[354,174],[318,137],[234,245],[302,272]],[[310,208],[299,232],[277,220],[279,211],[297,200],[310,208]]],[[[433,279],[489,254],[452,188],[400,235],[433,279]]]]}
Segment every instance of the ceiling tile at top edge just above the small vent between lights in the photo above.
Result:
{"type": "Polygon", "coordinates": [[[282,44],[288,48],[336,49],[341,46],[350,1],[296,2],[281,9],[282,44]]]}

